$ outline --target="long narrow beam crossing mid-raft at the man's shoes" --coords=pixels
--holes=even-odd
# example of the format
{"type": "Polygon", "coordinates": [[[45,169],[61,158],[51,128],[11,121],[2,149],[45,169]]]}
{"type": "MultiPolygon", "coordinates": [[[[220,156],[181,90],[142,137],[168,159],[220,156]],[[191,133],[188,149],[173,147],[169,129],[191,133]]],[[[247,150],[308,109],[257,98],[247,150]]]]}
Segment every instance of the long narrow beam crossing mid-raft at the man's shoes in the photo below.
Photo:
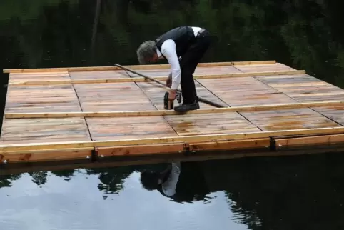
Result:
{"type": "MultiPolygon", "coordinates": [[[[278,109],[299,109],[310,107],[343,106],[344,101],[313,101],[290,104],[268,104],[261,106],[233,106],[226,108],[198,109],[185,114],[219,114],[228,112],[269,111],[278,109]]],[[[174,110],[148,110],[148,111],[84,111],[84,112],[51,112],[51,113],[5,113],[5,119],[29,118],[66,118],[66,117],[110,117],[110,116],[165,116],[180,115],[174,110]]]]}

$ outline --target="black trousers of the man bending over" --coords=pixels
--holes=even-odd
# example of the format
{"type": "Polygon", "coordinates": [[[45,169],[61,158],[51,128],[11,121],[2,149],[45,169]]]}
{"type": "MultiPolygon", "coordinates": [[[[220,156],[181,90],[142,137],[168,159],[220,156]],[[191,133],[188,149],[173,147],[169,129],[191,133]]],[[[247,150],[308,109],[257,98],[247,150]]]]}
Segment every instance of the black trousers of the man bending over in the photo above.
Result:
{"type": "Polygon", "coordinates": [[[186,53],[181,57],[179,64],[181,66],[181,91],[183,104],[193,104],[198,101],[193,73],[203,54],[209,48],[211,37],[208,31],[204,30],[196,36],[195,41],[188,47],[186,53]]]}

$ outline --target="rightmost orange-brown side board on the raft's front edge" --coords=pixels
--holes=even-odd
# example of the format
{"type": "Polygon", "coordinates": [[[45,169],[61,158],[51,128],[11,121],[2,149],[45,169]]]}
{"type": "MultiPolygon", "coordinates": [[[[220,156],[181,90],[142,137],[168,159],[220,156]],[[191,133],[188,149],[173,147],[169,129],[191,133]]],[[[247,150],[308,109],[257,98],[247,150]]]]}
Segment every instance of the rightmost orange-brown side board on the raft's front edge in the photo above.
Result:
{"type": "Polygon", "coordinates": [[[303,136],[297,138],[275,139],[277,149],[285,149],[295,146],[316,146],[316,145],[331,145],[344,144],[344,134],[324,135],[324,136],[303,136]]]}

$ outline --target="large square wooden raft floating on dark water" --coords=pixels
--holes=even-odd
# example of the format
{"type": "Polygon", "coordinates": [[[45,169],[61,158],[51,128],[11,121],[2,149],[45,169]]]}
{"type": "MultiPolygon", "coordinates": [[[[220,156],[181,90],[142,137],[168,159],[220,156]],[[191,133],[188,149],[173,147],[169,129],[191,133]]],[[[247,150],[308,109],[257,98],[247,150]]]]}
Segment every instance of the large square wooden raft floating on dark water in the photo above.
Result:
{"type": "MultiPolygon", "coordinates": [[[[169,71],[126,67],[161,81],[169,71]]],[[[163,109],[166,89],[116,66],[4,73],[0,163],[344,143],[344,90],[276,61],[199,64],[198,96],[224,107],[186,114],[163,109]]]]}

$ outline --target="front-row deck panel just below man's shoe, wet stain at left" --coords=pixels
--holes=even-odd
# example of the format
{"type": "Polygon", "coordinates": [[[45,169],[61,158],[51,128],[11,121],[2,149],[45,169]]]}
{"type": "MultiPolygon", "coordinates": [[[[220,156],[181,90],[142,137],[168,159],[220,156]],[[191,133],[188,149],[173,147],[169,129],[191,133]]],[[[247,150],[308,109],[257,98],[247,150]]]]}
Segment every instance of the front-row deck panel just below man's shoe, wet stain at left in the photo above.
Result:
{"type": "Polygon", "coordinates": [[[164,118],[179,136],[260,131],[237,113],[168,115],[164,118]]]}

